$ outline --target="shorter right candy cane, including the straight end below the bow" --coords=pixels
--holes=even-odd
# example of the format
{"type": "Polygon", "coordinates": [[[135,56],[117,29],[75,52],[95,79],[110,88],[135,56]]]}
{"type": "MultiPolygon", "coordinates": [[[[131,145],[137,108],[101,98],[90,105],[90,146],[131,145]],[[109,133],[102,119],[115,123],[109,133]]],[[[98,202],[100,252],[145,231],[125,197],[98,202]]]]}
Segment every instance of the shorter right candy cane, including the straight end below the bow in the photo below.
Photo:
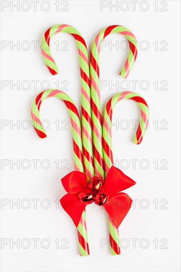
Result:
{"type": "MultiPolygon", "coordinates": [[[[136,101],[137,105],[140,108],[141,116],[139,125],[136,131],[133,142],[139,144],[142,141],[142,138],[146,132],[149,120],[149,109],[146,101],[136,92],[124,91],[114,95],[106,104],[104,109],[104,118],[103,118],[103,156],[105,160],[105,175],[107,175],[109,168],[113,164],[113,153],[112,153],[112,112],[115,105],[123,100],[131,99],[136,101]]],[[[111,245],[111,253],[114,255],[118,250],[119,243],[119,233],[111,218],[109,217],[109,237],[111,245]]]]}

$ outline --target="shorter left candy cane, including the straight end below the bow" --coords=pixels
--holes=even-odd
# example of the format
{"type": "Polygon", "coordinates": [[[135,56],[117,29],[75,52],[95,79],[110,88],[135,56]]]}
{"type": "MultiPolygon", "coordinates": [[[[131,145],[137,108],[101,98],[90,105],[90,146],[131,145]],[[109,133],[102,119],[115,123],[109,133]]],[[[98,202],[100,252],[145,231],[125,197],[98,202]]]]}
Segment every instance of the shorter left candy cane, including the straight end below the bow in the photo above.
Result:
{"type": "MultiPolygon", "coordinates": [[[[31,108],[32,124],[37,135],[41,138],[46,137],[45,130],[40,120],[40,106],[42,102],[49,97],[58,97],[61,99],[67,109],[71,119],[72,137],[73,137],[73,151],[74,151],[74,168],[77,171],[84,172],[83,163],[83,151],[82,151],[82,136],[81,136],[81,124],[79,119],[78,110],[68,94],[59,90],[46,90],[41,92],[34,100],[31,108]]],[[[88,234],[86,227],[86,212],[84,211],[77,227],[79,250],[81,256],[89,255],[88,234]]]]}

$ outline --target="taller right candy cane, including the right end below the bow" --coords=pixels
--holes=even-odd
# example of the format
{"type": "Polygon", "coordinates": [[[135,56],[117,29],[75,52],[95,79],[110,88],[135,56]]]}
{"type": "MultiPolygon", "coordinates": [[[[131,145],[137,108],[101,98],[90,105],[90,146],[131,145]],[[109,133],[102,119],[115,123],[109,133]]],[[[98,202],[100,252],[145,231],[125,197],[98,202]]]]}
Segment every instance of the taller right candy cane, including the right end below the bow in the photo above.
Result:
{"type": "MultiPolygon", "coordinates": [[[[100,106],[100,80],[99,80],[99,55],[102,41],[110,33],[124,35],[130,45],[128,58],[123,66],[120,75],[127,78],[137,56],[137,44],[135,35],[124,26],[109,26],[101,30],[92,44],[90,54],[90,92],[91,92],[91,116],[92,116],[92,138],[93,138],[93,159],[95,175],[104,179],[103,146],[102,146],[102,118],[100,106]]],[[[109,218],[109,233],[111,254],[120,254],[119,233],[109,218]],[[116,239],[113,239],[116,237],[116,239]],[[115,243],[115,240],[117,241],[115,243]]]]}

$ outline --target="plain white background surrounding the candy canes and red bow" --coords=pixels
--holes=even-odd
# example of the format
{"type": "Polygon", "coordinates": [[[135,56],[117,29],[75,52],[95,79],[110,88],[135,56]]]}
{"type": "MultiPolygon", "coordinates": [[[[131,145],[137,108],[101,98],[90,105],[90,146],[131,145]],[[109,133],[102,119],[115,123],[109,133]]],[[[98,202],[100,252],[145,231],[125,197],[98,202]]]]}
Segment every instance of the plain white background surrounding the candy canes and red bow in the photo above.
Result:
{"type": "MultiPolygon", "coordinates": [[[[3,121],[7,122],[7,126],[1,127],[1,160],[3,160],[1,163],[4,164],[4,160],[8,163],[1,171],[1,198],[3,203],[7,204],[1,205],[1,242],[6,238],[9,243],[1,249],[1,271],[179,272],[180,1],[167,1],[168,6],[165,9],[168,11],[160,11],[165,1],[164,4],[158,1],[158,11],[155,11],[153,4],[155,1],[149,1],[147,11],[141,10],[146,6],[144,4],[140,6],[140,1],[136,4],[135,11],[133,11],[133,3],[129,1],[127,1],[129,4],[127,11],[123,11],[126,9],[126,4],[119,7],[118,11],[116,8],[110,11],[109,5],[100,11],[99,1],[68,1],[69,5],[66,8],[68,11],[60,10],[66,5],[61,1],[59,11],[56,11],[55,1],[49,1],[48,11],[44,11],[47,9],[46,4],[43,6],[44,10],[41,9],[42,1],[40,1],[37,4],[37,11],[34,11],[34,5],[32,1],[29,1],[29,11],[22,10],[27,9],[26,3],[22,8],[20,7],[20,11],[17,11],[15,7],[11,11],[10,5],[17,1],[1,1],[1,5],[2,2],[9,2],[9,6],[1,11],[1,40],[7,41],[9,45],[1,47],[1,80],[7,80],[9,85],[1,90],[1,119],[7,120],[3,121]],[[43,103],[41,120],[47,119],[51,124],[47,131],[47,138],[43,140],[37,137],[32,126],[25,130],[27,123],[22,123],[23,120],[31,120],[32,101],[39,92],[43,91],[41,83],[45,80],[49,81],[50,88],[56,88],[56,81],[60,83],[59,88],[62,87],[62,80],[68,81],[67,93],[80,111],[80,72],[74,39],[68,34],[61,33],[51,40],[51,52],[60,71],[56,76],[52,76],[45,67],[40,43],[37,49],[34,49],[32,42],[41,41],[45,30],[59,23],[73,25],[82,33],[87,42],[89,54],[95,35],[102,28],[112,24],[128,27],[138,40],[138,57],[128,78],[130,84],[128,91],[134,91],[131,81],[138,80],[136,92],[142,95],[149,105],[150,126],[143,142],[140,145],[134,145],[132,142],[133,123],[130,120],[139,119],[136,103],[122,101],[116,106],[113,123],[118,122],[120,125],[121,120],[128,120],[130,127],[128,130],[120,127],[118,130],[116,127],[113,128],[114,159],[115,162],[119,162],[116,165],[119,168],[121,168],[122,160],[125,160],[122,166],[128,169],[121,169],[136,181],[136,185],[128,189],[127,193],[133,199],[138,199],[135,209],[131,208],[119,228],[120,238],[123,239],[119,256],[111,256],[108,244],[100,247],[100,239],[108,239],[108,224],[106,214],[96,205],[87,207],[90,256],[85,258],[79,256],[76,228],[71,219],[62,209],[56,209],[54,201],[65,193],[60,179],[73,170],[70,125],[67,127],[68,130],[62,130],[65,123],[60,123],[59,130],[56,130],[54,124],[57,119],[60,122],[69,120],[63,103],[55,98],[47,99],[43,103]],[[19,50],[17,47],[10,48],[10,44],[17,44],[17,41],[20,43],[19,50]],[[24,49],[26,45],[22,44],[23,41],[29,42],[29,50],[24,49]],[[58,51],[54,45],[57,41],[60,43],[58,51]],[[69,43],[68,51],[61,50],[65,45],[61,45],[62,41],[69,43]],[[141,41],[149,43],[147,50],[140,48],[141,41]],[[153,44],[155,41],[158,41],[158,50],[155,50],[153,44]],[[160,45],[162,41],[168,43],[165,47],[166,51],[161,50],[164,45],[160,45]],[[10,86],[10,80],[12,83],[19,80],[20,84],[23,81],[29,81],[30,86],[27,87],[25,84],[17,90],[17,87],[10,86]],[[33,80],[39,81],[36,90],[33,80]],[[149,82],[149,88],[146,91],[143,90],[145,85],[140,85],[143,80],[149,82]],[[155,90],[153,84],[156,80],[158,90],[155,90]],[[165,87],[167,90],[160,90],[163,86],[160,84],[162,80],[168,82],[165,87]],[[166,121],[160,124],[162,120],[166,121]],[[20,127],[10,127],[12,122],[20,122],[20,127]],[[157,122],[158,129],[155,127],[157,122]],[[165,126],[166,130],[163,130],[161,127],[165,122],[168,124],[165,126]],[[12,162],[17,162],[18,159],[20,169],[12,165],[12,162]],[[32,159],[40,160],[37,163],[37,170],[34,169],[32,159]],[[41,167],[41,161],[45,159],[50,162],[47,170],[41,167]],[[138,160],[135,170],[133,162],[130,161],[133,159],[138,160]],[[10,160],[12,160],[11,163],[10,160]],[[27,163],[21,165],[23,160],[30,162],[29,169],[24,169],[27,163]],[[56,169],[54,163],[56,160],[59,160],[60,168],[63,166],[61,161],[68,160],[68,169],[56,169]],[[141,160],[146,160],[142,166],[141,160]],[[158,160],[158,169],[153,163],[155,160],[158,160]],[[161,169],[165,161],[168,162],[166,169],[161,169]],[[128,162],[130,165],[127,165],[128,162]],[[144,170],[146,162],[149,164],[144,170]],[[17,199],[20,201],[19,209],[17,205],[10,206],[10,202],[11,204],[17,202],[17,199]],[[23,202],[23,199],[29,200],[29,209],[25,209],[28,202],[23,202]],[[32,199],[40,199],[37,202],[37,209],[34,208],[32,199]],[[43,199],[48,199],[50,203],[48,209],[45,209],[47,202],[42,202],[41,205],[43,199]],[[155,204],[157,202],[158,207],[155,204]],[[147,209],[143,209],[146,205],[147,209]],[[18,238],[20,239],[19,249],[17,245],[10,242],[10,239],[15,242],[18,238]],[[21,245],[21,241],[25,238],[31,242],[27,249],[24,248],[27,246],[26,241],[21,245]],[[37,241],[36,249],[32,238],[40,239],[37,241]],[[63,238],[69,241],[68,249],[61,248],[65,243],[61,241],[63,238]],[[49,240],[48,249],[41,246],[42,239],[49,240]],[[56,249],[54,242],[56,239],[60,242],[59,249],[56,249]],[[136,248],[133,247],[131,239],[138,239],[136,248]],[[141,239],[146,239],[149,243],[147,248],[143,248],[145,242],[141,244],[141,239]],[[156,241],[158,241],[158,248],[155,246],[156,241]],[[165,241],[167,242],[163,246],[165,241]]],[[[115,1],[112,3],[115,4],[115,1]]],[[[106,38],[106,41],[109,43],[112,41],[114,44],[116,41],[121,43],[125,40],[121,35],[109,35],[106,38]]],[[[145,44],[142,46],[145,48],[145,44]]],[[[127,51],[121,49],[117,51],[115,47],[110,50],[109,46],[103,48],[100,53],[100,79],[121,83],[123,79],[119,76],[119,72],[126,56],[127,51]]],[[[48,87],[45,84],[43,88],[48,87]]],[[[101,91],[102,109],[106,101],[118,91],[123,89],[113,87],[109,90],[107,86],[101,91]]]]}

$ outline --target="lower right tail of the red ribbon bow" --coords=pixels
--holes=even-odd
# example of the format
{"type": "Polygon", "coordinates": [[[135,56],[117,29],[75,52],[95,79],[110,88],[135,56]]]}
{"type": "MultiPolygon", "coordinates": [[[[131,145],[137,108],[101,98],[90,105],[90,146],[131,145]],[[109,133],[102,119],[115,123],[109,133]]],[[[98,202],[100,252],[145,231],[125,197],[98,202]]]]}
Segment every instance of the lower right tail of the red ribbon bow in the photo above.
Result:
{"type": "Polygon", "coordinates": [[[116,228],[120,226],[123,219],[132,206],[132,199],[126,193],[112,193],[109,196],[109,202],[104,206],[111,217],[116,228]]]}

